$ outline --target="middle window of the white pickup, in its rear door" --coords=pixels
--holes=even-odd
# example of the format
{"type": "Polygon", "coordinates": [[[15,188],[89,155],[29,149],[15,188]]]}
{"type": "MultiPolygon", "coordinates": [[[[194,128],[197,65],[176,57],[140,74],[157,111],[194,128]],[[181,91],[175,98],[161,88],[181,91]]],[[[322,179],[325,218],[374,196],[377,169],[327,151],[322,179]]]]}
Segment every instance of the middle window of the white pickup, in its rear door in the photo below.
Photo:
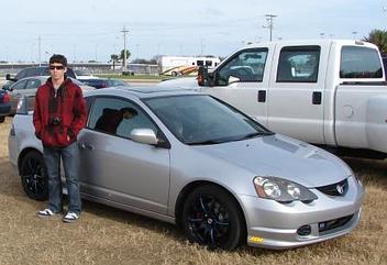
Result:
{"type": "Polygon", "coordinates": [[[317,82],[320,46],[283,47],[279,54],[277,82],[317,82]]]}

